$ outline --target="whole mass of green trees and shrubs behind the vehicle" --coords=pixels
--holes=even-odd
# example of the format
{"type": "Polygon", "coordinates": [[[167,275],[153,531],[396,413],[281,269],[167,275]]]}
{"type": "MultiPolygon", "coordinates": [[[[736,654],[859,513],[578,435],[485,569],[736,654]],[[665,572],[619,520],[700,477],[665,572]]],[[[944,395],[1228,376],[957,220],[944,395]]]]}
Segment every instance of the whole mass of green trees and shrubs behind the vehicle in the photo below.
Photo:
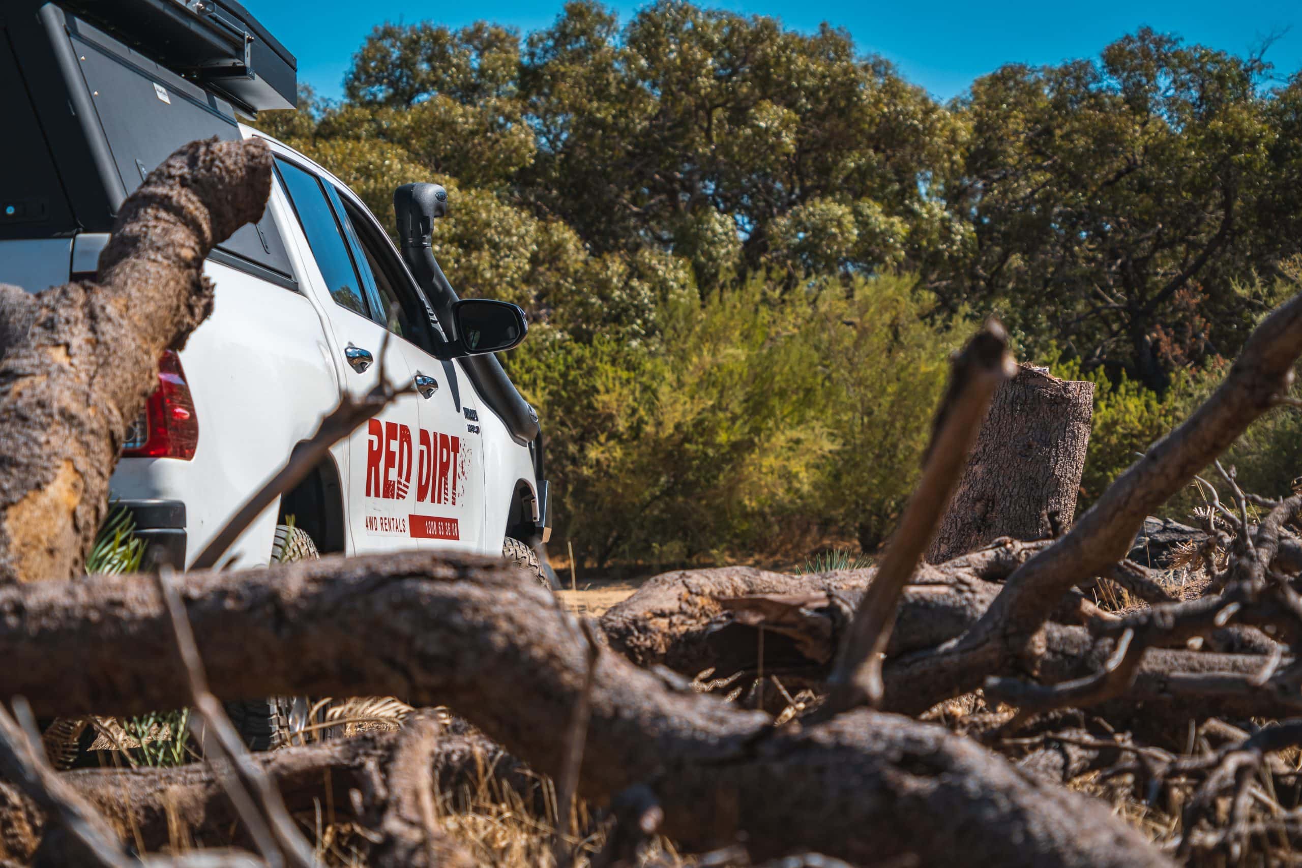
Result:
{"type": "MultiPolygon", "coordinates": [[[[1098,384],[1088,504],[1206,394],[1302,243],[1302,74],[1151,30],[940,104],[828,26],[575,0],[523,36],[379,26],[345,94],[258,124],[381,217],[401,183],[448,187],[435,254],[530,314],[508,363],[559,541],[602,566],[874,548],[947,351],[992,312],[1098,384]]],[[[1245,481],[1302,472],[1297,426],[1249,435],[1245,481]]]]}

